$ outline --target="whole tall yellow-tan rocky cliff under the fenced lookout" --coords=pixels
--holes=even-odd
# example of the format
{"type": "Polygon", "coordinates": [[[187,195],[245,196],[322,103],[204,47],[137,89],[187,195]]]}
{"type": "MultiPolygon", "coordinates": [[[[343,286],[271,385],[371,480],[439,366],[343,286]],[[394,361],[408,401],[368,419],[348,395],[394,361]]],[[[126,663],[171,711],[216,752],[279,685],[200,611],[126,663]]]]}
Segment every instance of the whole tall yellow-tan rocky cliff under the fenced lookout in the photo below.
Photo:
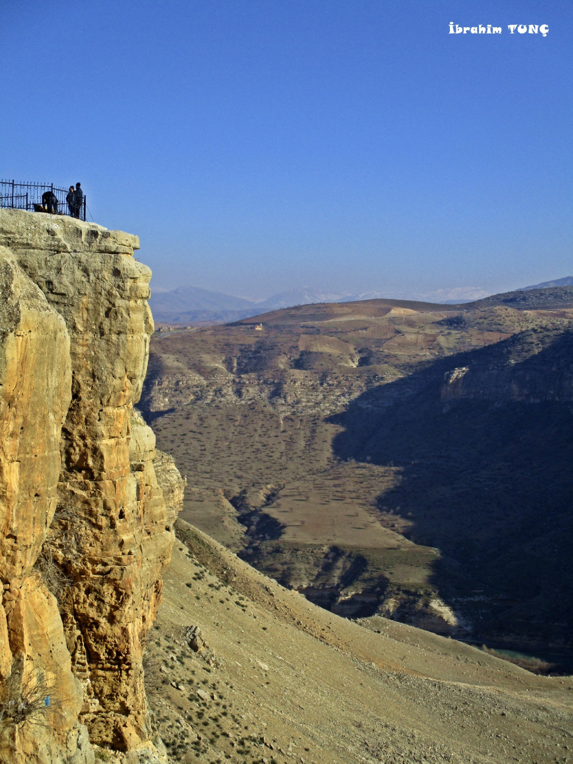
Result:
{"type": "Polygon", "coordinates": [[[0,760],[160,760],[142,652],[182,481],[133,409],[151,271],[57,215],[2,210],[0,245],[0,760]]]}

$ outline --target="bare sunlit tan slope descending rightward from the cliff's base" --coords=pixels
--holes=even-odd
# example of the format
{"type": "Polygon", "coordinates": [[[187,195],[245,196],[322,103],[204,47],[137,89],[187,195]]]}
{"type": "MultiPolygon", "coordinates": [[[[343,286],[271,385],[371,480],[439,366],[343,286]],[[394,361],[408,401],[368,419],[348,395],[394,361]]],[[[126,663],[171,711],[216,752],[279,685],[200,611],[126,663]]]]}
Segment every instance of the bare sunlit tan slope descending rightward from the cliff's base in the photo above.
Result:
{"type": "Polygon", "coordinates": [[[177,526],[146,656],[170,761],[570,760],[571,678],[383,618],[352,623],[177,526]]]}

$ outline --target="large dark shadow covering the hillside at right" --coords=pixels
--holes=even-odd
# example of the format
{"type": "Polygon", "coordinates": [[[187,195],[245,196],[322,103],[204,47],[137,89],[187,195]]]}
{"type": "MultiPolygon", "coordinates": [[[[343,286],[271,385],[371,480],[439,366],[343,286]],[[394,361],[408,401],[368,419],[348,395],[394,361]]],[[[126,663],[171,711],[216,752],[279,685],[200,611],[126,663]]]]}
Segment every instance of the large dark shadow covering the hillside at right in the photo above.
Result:
{"type": "Polygon", "coordinates": [[[401,468],[378,497],[383,522],[402,516],[410,539],[440,549],[433,584],[476,640],[571,648],[572,360],[570,332],[524,332],[440,359],[329,419],[345,428],[338,458],[401,468]],[[444,374],[465,366],[474,397],[445,406],[444,374]],[[406,384],[409,397],[398,394],[406,384]]]}

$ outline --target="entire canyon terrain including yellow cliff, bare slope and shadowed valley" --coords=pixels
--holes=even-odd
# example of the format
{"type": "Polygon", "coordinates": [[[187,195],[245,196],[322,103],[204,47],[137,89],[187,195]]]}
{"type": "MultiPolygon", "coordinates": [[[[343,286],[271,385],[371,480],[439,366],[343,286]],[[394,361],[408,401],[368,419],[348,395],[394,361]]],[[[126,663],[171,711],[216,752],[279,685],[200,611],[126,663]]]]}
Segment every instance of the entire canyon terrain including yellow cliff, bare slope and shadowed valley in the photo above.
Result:
{"type": "Polygon", "coordinates": [[[154,332],[138,247],[0,210],[0,762],[568,761],[571,289],[154,332]]]}

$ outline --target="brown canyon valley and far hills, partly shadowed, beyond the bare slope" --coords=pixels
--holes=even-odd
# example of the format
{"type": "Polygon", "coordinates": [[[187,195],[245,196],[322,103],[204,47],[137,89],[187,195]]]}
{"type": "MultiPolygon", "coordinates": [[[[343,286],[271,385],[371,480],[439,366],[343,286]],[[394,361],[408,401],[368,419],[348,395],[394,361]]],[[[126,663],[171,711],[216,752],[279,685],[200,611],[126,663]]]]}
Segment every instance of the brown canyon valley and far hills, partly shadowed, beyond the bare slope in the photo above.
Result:
{"type": "Polygon", "coordinates": [[[571,656],[570,286],[299,306],[151,341],[181,515],[333,613],[571,656]]]}

